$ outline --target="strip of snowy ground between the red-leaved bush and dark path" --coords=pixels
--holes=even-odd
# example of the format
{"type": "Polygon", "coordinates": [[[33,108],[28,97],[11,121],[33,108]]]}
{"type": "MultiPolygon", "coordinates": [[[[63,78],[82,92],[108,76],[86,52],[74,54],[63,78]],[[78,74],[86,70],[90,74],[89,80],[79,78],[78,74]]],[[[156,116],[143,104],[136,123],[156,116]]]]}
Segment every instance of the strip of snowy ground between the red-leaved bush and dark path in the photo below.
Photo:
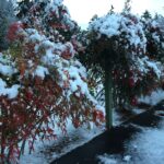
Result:
{"type": "Polygon", "coordinates": [[[71,121],[68,121],[67,134],[65,136],[61,130],[56,128],[57,140],[45,141],[39,140],[35,143],[35,151],[28,154],[26,147],[25,154],[21,156],[20,164],[48,164],[55,159],[72,151],[73,149],[83,145],[94,137],[104,131],[102,127],[91,125],[91,129],[86,127],[74,129],[71,121]]]}

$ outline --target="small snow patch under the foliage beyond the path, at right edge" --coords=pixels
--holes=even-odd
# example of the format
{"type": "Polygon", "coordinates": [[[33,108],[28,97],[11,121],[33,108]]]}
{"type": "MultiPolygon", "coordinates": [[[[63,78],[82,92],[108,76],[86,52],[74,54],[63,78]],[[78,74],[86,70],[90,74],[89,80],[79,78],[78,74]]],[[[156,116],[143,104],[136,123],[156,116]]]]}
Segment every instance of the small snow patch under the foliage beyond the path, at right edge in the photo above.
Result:
{"type": "Polygon", "coordinates": [[[164,91],[162,89],[159,89],[159,90],[152,92],[151,95],[141,96],[139,98],[139,102],[147,103],[150,105],[155,105],[155,104],[160,103],[162,99],[164,99],[164,91]]]}

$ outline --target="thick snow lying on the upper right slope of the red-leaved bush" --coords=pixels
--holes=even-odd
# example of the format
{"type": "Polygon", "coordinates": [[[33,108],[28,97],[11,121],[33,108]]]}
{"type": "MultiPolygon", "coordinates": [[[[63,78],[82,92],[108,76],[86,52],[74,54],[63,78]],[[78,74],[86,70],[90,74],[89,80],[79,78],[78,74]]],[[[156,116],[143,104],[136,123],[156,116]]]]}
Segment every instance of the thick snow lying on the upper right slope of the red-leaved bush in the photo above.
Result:
{"type": "MultiPolygon", "coordinates": [[[[38,75],[42,79],[46,74],[51,75],[50,68],[55,68],[59,75],[59,85],[67,90],[67,96],[75,93],[77,96],[86,96],[92,99],[86,83],[86,70],[80,61],[74,57],[75,50],[71,43],[52,43],[40,35],[36,30],[26,30],[28,40],[35,44],[36,54],[40,54],[42,49],[45,49],[44,54],[40,54],[40,61],[43,66],[37,66],[34,71],[34,75],[38,75]]],[[[33,67],[33,61],[31,61],[33,67]]],[[[55,75],[55,74],[52,74],[55,75]]],[[[57,74],[56,74],[57,75],[57,74]]]]}

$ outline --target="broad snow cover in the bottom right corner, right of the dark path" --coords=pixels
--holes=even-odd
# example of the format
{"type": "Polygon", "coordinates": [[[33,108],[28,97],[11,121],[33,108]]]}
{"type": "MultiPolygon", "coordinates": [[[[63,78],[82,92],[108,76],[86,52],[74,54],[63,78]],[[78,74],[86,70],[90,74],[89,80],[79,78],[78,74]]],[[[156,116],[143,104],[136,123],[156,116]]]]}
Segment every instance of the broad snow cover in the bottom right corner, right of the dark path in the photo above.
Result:
{"type": "Polygon", "coordinates": [[[164,120],[156,128],[144,128],[127,142],[124,155],[97,156],[99,164],[163,164],[164,120]]]}

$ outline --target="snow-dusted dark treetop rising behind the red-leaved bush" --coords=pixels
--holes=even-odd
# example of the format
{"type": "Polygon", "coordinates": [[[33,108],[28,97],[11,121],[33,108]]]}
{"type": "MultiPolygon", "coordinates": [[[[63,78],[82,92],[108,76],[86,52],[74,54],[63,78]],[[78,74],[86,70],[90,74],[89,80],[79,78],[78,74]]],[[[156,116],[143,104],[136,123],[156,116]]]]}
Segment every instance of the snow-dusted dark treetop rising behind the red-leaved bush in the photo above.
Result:
{"type": "Polygon", "coordinates": [[[17,16],[22,19],[24,24],[42,28],[46,36],[56,42],[58,39],[70,40],[72,35],[79,31],[78,24],[71,20],[69,11],[61,0],[23,0],[19,3],[17,16]],[[60,38],[56,38],[58,36],[60,38]]]}

